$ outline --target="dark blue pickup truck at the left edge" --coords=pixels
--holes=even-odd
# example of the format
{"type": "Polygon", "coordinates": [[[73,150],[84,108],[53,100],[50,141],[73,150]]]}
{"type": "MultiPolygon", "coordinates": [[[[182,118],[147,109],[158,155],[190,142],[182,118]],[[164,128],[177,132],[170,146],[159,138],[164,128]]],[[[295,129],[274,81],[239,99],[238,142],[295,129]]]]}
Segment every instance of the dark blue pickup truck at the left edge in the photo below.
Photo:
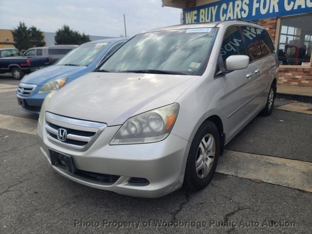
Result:
{"type": "Polygon", "coordinates": [[[50,65],[48,57],[21,57],[17,49],[0,49],[0,74],[12,73],[13,78],[21,79],[25,74],[50,65]]]}

